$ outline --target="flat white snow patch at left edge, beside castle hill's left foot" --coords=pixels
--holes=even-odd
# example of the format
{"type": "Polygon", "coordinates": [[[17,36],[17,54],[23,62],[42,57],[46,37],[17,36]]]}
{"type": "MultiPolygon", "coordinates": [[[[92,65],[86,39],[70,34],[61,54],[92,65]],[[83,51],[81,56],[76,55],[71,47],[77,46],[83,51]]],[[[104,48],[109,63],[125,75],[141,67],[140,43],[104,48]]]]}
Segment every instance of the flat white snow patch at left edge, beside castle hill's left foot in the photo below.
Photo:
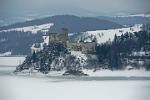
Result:
{"type": "Polygon", "coordinates": [[[18,66],[19,64],[23,63],[25,60],[25,56],[5,56],[0,57],[0,65],[4,66],[18,66]]]}

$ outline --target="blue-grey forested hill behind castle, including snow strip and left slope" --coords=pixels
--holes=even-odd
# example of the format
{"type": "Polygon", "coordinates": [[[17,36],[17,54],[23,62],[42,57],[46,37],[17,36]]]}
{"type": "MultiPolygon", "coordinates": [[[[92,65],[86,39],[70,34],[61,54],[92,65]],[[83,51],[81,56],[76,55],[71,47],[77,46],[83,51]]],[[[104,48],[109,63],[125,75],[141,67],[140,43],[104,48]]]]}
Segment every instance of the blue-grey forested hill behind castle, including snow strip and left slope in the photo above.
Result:
{"type": "Polygon", "coordinates": [[[0,53],[29,54],[32,44],[42,42],[42,36],[49,30],[50,32],[60,32],[63,27],[74,33],[113,29],[123,26],[106,20],[71,15],[58,15],[16,23],[0,28],[0,53]]]}

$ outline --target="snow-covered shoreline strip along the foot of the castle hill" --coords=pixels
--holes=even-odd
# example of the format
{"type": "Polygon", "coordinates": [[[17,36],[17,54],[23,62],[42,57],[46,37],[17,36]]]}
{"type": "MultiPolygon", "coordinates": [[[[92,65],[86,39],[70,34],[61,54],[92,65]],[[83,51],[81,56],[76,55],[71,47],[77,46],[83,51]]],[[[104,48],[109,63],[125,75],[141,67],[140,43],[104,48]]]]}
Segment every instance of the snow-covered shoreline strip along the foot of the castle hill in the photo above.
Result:
{"type": "MultiPolygon", "coordinates": [[[[65,77],[75,77],[75,76],[62,76],[62,74],[65,73],[65,70],[63,71],[50,71],[48,74],[42,74],[41,72],[33,71],[32,73],[29,72],[29,70],[25,70],[23,72],[19,72],[17,74],[14,74],[16,66],[0,66],[0,72],[7,72],[11,75],[18,75],[18,76],[29,76],[29,77],[50,77],[50,78],[65,78],[65,77]]],[[[84,69],[83,72],[85,74],[88,74],[87,77],[93,77],[93,78],[104,78],[108,80],[109,78],[113,78],[117,80],[117,78],[123,78],[124,80],[132,80],[132,78],[145,78],[150,80],[150,71],[146,71],[144,69],[140,70],[98,70],[96,72],[93,72],[93,70],[87,70],[84,69]]],[[[77,76],[79,77],[79,76],[77,76]]],[[[83,76],[82,76],[83,77],[83,76]]]]}

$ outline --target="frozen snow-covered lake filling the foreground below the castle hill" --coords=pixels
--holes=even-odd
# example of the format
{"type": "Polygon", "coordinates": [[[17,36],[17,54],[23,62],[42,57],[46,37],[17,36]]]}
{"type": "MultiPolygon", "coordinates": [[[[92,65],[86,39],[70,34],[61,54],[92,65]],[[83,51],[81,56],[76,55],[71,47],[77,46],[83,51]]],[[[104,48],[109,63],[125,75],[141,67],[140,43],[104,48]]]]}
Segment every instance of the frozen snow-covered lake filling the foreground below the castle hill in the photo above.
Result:
{"type": "Polygon", "coordinates": [[[13,75],[0,66],[0,100],[150,100],[149,77],[13,75]]]}

